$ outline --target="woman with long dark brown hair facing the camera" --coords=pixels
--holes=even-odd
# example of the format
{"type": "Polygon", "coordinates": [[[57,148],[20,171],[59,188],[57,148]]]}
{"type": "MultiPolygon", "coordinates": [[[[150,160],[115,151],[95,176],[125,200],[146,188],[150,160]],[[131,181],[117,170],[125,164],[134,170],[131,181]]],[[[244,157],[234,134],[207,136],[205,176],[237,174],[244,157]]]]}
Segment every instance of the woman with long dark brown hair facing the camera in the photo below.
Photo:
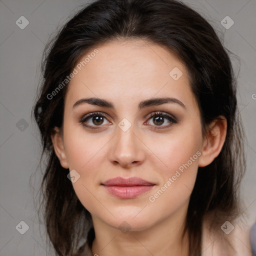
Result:
{"type": "Polygon", "coordinates": [[[251,255],[235,79],[204,18],[175,0],[97,0],[43,67],[33,113],[57,255],[251,255]]]}

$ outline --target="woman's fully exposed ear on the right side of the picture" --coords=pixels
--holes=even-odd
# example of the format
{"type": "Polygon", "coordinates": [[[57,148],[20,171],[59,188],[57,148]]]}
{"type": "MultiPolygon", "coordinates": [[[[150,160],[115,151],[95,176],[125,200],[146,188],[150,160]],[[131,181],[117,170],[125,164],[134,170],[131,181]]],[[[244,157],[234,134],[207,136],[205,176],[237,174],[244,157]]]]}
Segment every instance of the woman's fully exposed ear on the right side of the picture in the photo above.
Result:
{"type": "Polygon", "coordinates": [[[207,134],[203,139],[198,161],[199,167],[210,164],[218,156],[225,141],[226,127],[227,121],[223,115],[219,115],[207,125],[207,134]]]}

